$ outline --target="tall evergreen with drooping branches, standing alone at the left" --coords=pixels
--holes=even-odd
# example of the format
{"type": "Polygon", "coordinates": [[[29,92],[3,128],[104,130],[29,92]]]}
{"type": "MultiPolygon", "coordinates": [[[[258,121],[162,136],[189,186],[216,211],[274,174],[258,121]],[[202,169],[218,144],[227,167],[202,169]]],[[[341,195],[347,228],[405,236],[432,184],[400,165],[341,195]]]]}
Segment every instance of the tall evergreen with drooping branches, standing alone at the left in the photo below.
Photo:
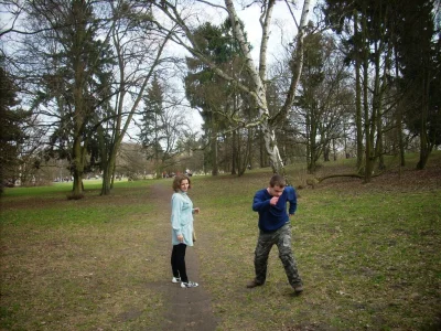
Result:
{"type": "Polygon", "coordinates": [[[34,108],[42,108],[45,114],[50,113],[45,110],[47,105],[51,111],[56,109],[51,113],[57,118],[51,137],[52,154],[69,160],[74,178],[72,196],[80,199],[89,143],[97,122],[103,120],[98,108],[103,109],[109,98],[111,60],[107,42],[98,36],[100,22],[94,13],[94,1],[63,4],[45,1],[29,4],[34,29],[47,28],[33,39],[29,56],[41,58],[39,70],[44,73],[34,108]]]}

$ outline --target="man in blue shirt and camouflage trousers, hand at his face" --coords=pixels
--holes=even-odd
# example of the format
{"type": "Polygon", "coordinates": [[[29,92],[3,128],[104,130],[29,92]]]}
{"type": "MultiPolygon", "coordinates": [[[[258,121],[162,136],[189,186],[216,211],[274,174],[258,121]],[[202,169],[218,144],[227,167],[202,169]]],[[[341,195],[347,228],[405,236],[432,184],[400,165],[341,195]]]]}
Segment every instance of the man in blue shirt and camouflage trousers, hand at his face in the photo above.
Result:
{"type": "Polygon", "coordinates": [[[267,189],[257,191],[252,201],[252,210],[259,213],[259,238],[255,250],[256,278],[247,287],[254,288],[265,284],[268,255],[272,245],[277,245],[288,281],[295,293],[301,293],[303,291],[302,280],[291,248],[290,217],[297,210],[294,188],[287,186],[284,178],[275,174],[267,189]],[[287,204],[289,204],[288,213],[287,204]]]}

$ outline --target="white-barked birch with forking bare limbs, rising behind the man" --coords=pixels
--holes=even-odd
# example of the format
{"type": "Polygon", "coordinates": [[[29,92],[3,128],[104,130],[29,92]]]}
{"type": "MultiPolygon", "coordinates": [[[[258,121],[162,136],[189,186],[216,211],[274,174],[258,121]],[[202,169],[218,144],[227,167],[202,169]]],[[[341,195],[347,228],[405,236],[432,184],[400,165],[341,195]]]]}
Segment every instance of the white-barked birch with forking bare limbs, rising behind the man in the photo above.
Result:
{"type": "MultiPolygon", "coordinates": [[[[198,0],[197,2],[204,3],[206,6],[220,8],[219,6],[212,4],[209,1],[205,1],[205,0],[198,0]]],[[[262,127],[265,147],[266,147],[266,151],[269,156],[269,160],[271,162],[272,170],[275,173],[283,174],[284,166],[283,166],[283,162],[282,162],[280,153],[279,153],[279,148],[277,146],[275,130],[277,129],[279,118],[282,119],[288,116],[288,111],[292,107],[292,104],[294,100],[294,95],[295,95],[295,89],[297,89],[298,83],[300,81],[300,75],[301,75],[302,65],[303,65],[303,63],[302,63],[303,62],[303,34],[304,34],[304,26],[305,26],[306,20],[308,20],[310,0],[304,0],[302,14],[301,14],[301,19],[300,19],[300,24],[298,26],[299,33],[298,33],[298,36],[295,40],[297,46],[291,55],[292,77],[291,77],[291,84],[290,84],[288,93],[287,93],[286,103],[281,107],[281,109],[279,109],[279,111],[277,111],[277,114],[275,116],[272,116],[272,118],[271,118],[269,110],[268,110],[267,89],[265,86],[265,82],[267,79],[266,78],[266,74],[267,74],[266,73],[266,68],[267,68],[266,62],[267,62],[267,50],[268,50],[267,45],[268,45],[268,39],[269,39],[269,26],[271,24],[272,8],[273,8],[275,3],[276,3],[276,0],[267,0],[267,2],[262,3],[262,6],[265,7],[262,14],[260,17],[260,24],[262,26],[262,41],[260,44],[259,67],[257,68],[256,63],[251,56],[251,51],[250,51],[248,44],[246,43],[244,32],[240,29],[239,18],[237,15],[237,12],[236,12],[236,9],[234,6],[234,0],[225,0],[226,10],[228,12],[228,17],[232,22],[235,38],[239,42],[243,54],[245,56],[246,68],[252,81],[250,86],[245,86],[241,82],[235,79],[233,76],[230,76],[227,73],[225,73],[224,71],[222,71],[219,67],[216,66],[216,64],[211,62],[209,58],[204,56],[203,52],[201,52],[197,47],[197,43],[194,40],[194,35],[193,35],[191,29],[186,25],[185,21],[182,19],[181,13],[178,10],[175,2],[163,0],[160,3],[155,3],[154,6],[158,9],[160,9],[161,11],[163,11],[163,13],[169,19],[171,19],[176,25],[179,25],[182,29],[184,36],[190,41],[191,45],[189,45],[185,42],[182,34],[175,33],[174,31],[172,32],[172,30],[166,29],[160,22],[155,21],[155,24],[161,30],[172,32],[172,40],[174,42],[184,46],[195,57],[197,57],[203,63],[208,65],[217,75],[219,75],[224,79],[230,82],[233,85],[237,86],[239,89],[241,89],[243,92],[245,92],[251,96],[251,98],[254,99],[254,102],[256,104],[256,107],[259,110],[259,118],[254,122],[241,122],[241,126],[243,127],[251,127],[251,126],[260,125],[262,127]]],[[[239,120],[237,120],[237,121],[239,122],[239,120]]]]}

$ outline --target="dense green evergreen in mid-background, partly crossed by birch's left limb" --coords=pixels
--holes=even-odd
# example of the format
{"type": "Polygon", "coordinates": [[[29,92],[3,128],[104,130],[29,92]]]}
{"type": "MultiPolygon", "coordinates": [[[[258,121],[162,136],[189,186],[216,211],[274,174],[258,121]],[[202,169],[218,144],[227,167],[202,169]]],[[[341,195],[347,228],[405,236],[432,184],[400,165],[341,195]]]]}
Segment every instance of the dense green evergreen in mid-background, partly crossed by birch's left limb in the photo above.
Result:
{"type": "MultiPolygon", "coordinates": [[[[195,41],[204,55],[218,67],[238,81],[246,78],[246,74],[239,70],[243,65],[243,57],[237,42],[232,36],[229,20],[219,26],[211,23],[201,25],[195,31],[195,41]]],[[[209,142],[208,157],[205,158],[206,163],[211,166],[212,174],[216,175],[219,166],[219,141],[223,141],[223,160],[228,163],[225,164],[225,168],[232,166],[232,173],[236,173],[236,169],[238,169],[240,175],[245,171],[241,171],[245,168],[240,167],[240,163],[247,164],[248,158],[239,162],[241,139],[239,130],[234,127],[247,117],[244,113],[249,108],[249,105],[245,103],[246,97],[238,92],[234,84],[219,77],[200,58],[187,57],[186,64],[189,68],[185,77],[186,97],[192,107],[200,110],[204,119],[205,138],[209,142]],[[232,130],[233,134],[223,134],[228,130],[232,130]]],[[[247,149],[245,148],[245,150],[247,149]]]]}

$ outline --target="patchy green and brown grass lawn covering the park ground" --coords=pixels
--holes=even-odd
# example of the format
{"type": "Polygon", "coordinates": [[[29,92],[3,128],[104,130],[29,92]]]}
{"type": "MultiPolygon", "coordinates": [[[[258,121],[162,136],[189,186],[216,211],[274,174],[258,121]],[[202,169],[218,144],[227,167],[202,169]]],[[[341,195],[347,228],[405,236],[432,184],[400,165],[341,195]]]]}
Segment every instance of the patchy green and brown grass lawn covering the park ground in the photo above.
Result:
{"type": "MultiPolygon", "coordinates": [[[[354,160],[322,173],[347,172],[354,160]]],[[[390,164],[394,160],[390,160],[390,164]]],[[[269,169],[244,177],[194,177],[198,280],[212,297],[218,330],[440,330],[441,153],[424,171],[326,180],[298,190],[293,250],[305,291],[293,297],[277,247],[267,284],[252,290],[257,215],[254,193],[269,169]]],[[[289,167],[297,186],[305,171],[289,167]]],[[[147,282],[170,277],[158,241],[169,201],[152,185],[120,182],[99,196],[66,199],[68,184],[8,189],[1,199],[1,330],[157,330],[166,309],[147,282]],[[161,223],[159,225],[159,223],[161,223]],[[130,311],[128,316],[127,311],[130,311]]],[[[171,195],[170,189],[170,195],[171,195]]],[[[169,232],[166,232],[169,234],[169,232]]]]}

